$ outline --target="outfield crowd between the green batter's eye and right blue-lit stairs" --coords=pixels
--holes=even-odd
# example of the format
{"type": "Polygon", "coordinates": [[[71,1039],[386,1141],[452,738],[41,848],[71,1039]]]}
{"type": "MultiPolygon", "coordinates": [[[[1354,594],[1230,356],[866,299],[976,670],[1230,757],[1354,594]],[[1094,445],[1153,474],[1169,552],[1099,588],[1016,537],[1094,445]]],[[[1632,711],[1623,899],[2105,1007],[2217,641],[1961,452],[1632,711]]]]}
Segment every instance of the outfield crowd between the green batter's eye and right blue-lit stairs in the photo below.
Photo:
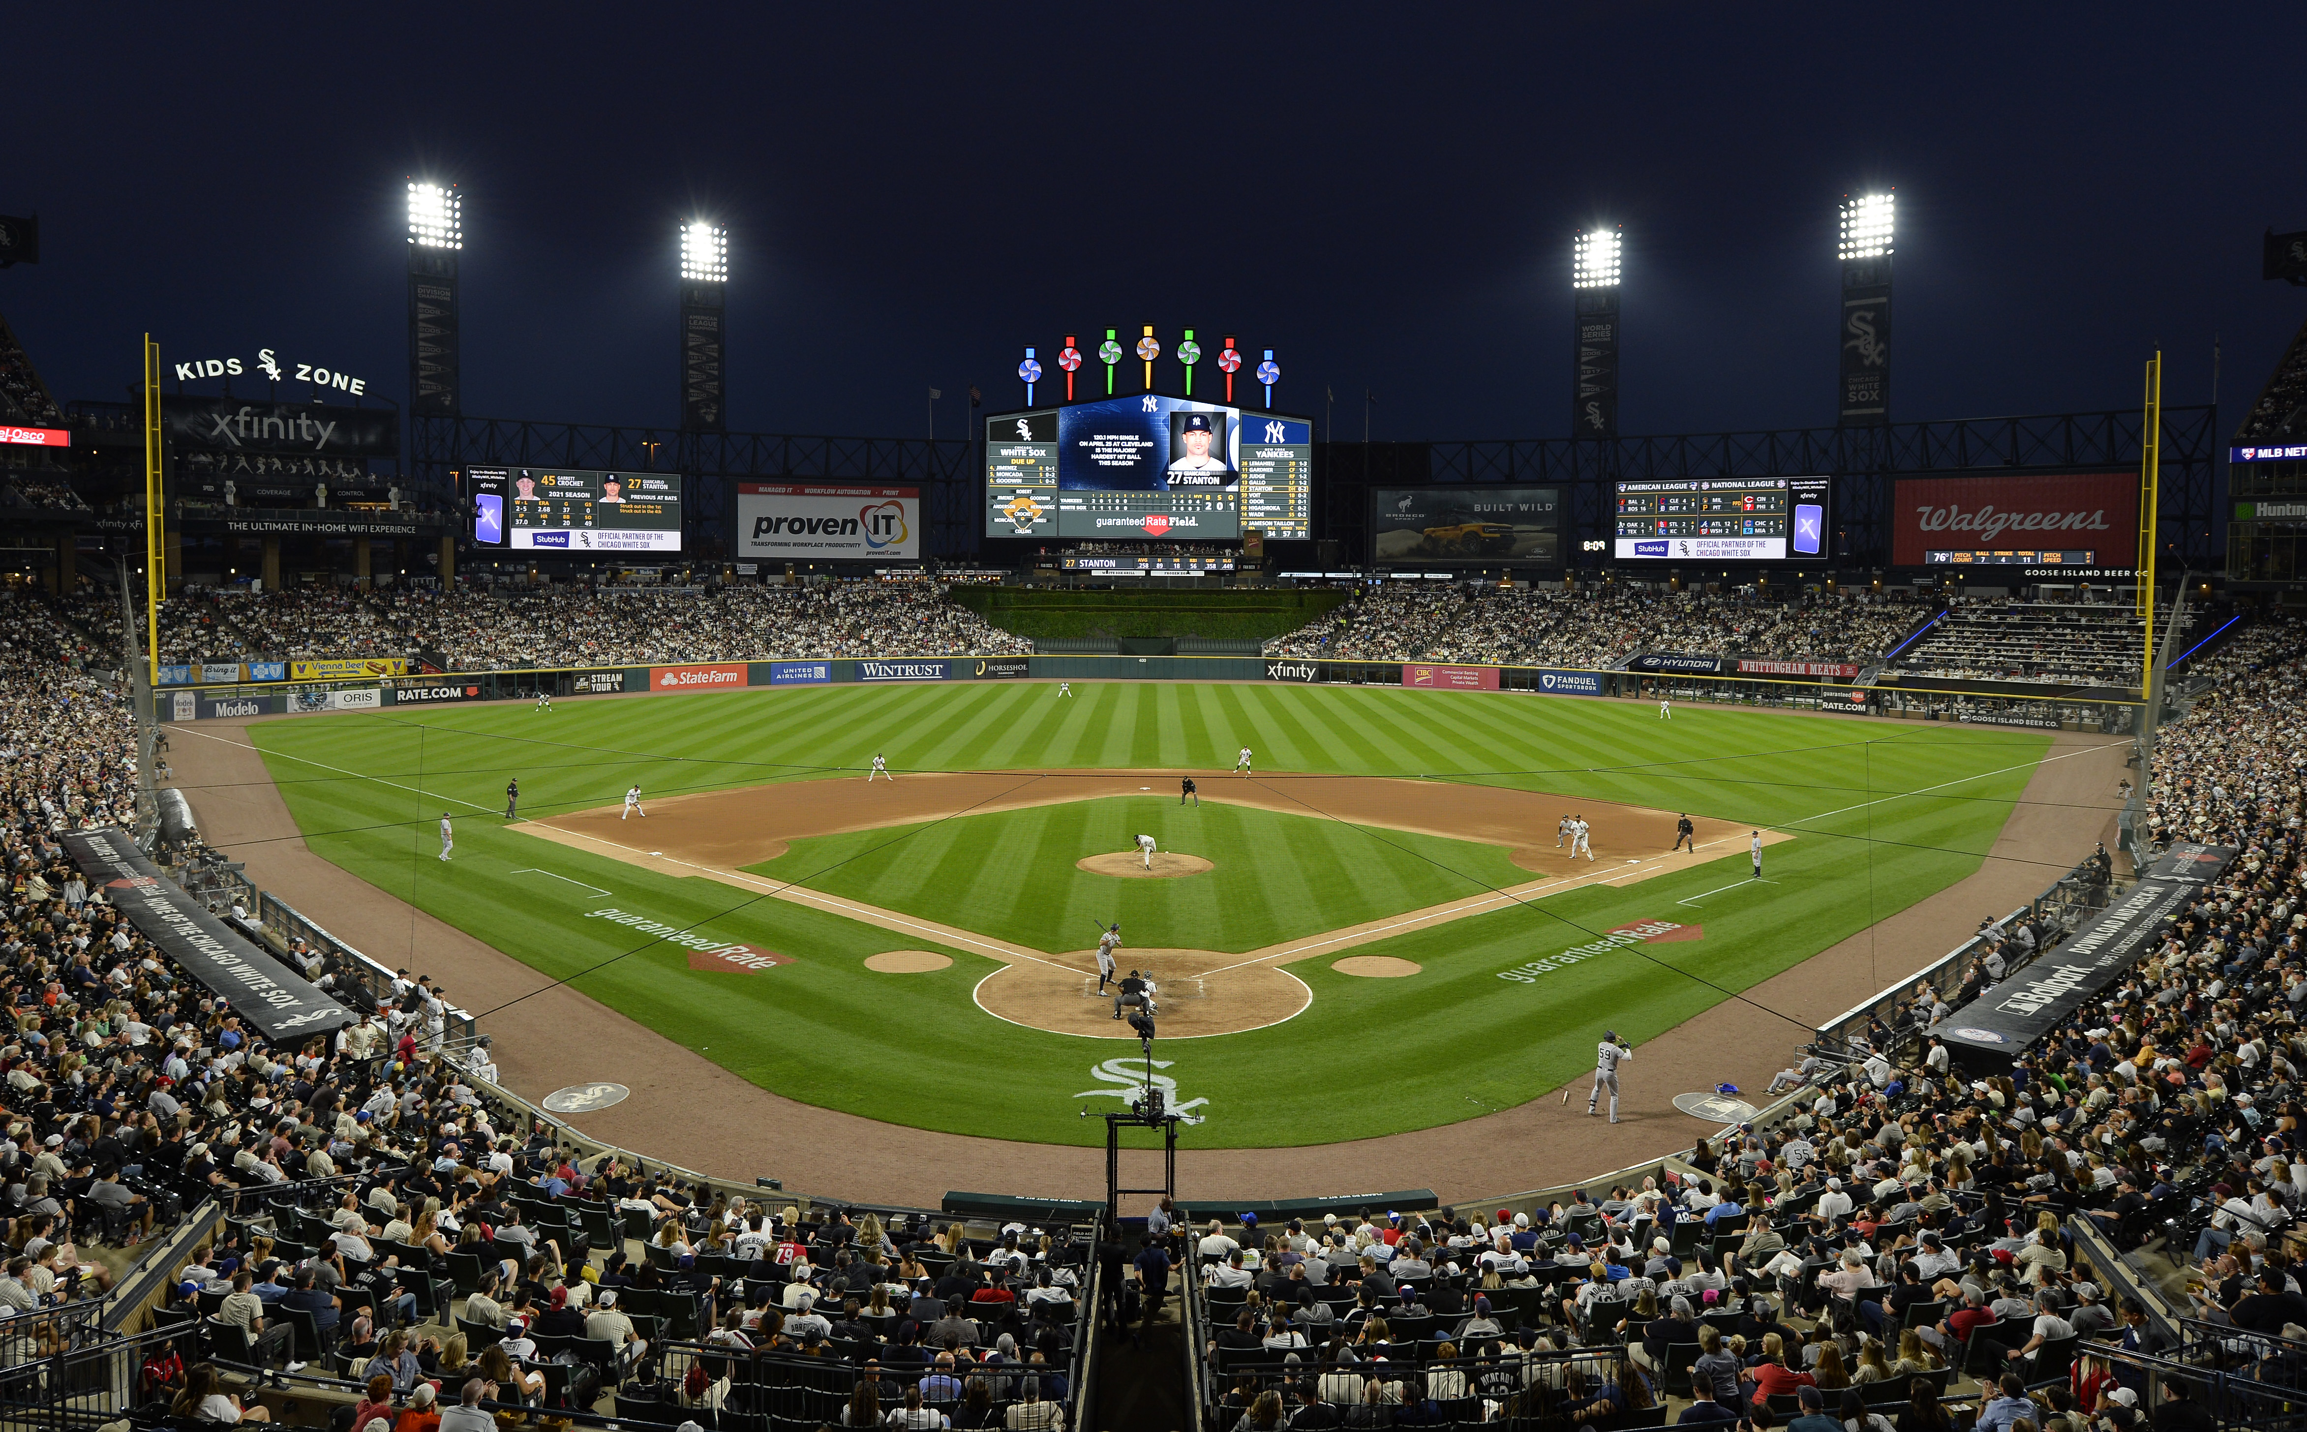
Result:
{"type": "Polygon", "coordinates": [[[1267,655],[1606,669],[1673,650],[1866,664],[1926,613],[1910,597],[1873,593],[1779,602],[1756,590],[1387,583],[1267,643],[1267,655]]]}

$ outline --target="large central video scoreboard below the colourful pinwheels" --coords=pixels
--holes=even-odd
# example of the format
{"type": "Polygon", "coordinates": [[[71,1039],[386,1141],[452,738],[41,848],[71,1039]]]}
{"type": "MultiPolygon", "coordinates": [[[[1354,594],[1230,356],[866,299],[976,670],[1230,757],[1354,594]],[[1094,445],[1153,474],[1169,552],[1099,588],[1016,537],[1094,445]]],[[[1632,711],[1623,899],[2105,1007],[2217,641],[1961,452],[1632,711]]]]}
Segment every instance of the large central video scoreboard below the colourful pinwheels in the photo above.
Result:
{"type": "Polygon", "coordinates": [[[1313,537],[1313,422],[1158,392],[985,420],[987,537],[1313,537]]]}

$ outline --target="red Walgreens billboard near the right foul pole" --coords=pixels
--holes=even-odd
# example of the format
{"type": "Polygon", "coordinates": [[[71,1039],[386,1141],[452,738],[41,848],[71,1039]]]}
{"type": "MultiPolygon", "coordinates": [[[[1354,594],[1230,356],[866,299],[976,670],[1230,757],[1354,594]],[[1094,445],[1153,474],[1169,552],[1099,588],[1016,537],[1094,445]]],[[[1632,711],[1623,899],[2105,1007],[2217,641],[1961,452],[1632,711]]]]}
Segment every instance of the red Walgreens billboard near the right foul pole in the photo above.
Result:
{"type": "Polygon", "coordinates": [[[2139,551],[2139,473],[1903,477],[1892,507],[1892,565],[1922,567],[1931,547],[2074,551],[2102,565],[2139,551]]]}

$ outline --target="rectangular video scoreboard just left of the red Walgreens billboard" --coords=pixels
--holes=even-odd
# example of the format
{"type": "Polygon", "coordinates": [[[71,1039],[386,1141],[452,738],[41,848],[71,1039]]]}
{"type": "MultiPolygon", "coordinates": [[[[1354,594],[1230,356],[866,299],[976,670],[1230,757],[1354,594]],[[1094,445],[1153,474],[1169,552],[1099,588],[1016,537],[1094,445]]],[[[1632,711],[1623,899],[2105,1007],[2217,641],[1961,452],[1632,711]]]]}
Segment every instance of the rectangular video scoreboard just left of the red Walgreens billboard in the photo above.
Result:
{"type": "Polygon", "coordinates": [[[1620,482],[1613,556],[1656,563],[1823,563],[1832,477],[1620,482]]]}

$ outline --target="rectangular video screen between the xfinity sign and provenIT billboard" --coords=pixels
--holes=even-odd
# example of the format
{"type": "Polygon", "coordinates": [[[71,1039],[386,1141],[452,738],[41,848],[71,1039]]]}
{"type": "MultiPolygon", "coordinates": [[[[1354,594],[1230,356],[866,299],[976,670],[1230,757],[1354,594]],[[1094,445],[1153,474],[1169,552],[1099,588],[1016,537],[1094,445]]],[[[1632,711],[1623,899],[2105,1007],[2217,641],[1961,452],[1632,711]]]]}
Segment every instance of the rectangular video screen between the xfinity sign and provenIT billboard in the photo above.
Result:
{"type": "Polygon", "coordinates": [[[678,473],[466,468],[473,542],[508,551],[681,551],[678,473]]]}

